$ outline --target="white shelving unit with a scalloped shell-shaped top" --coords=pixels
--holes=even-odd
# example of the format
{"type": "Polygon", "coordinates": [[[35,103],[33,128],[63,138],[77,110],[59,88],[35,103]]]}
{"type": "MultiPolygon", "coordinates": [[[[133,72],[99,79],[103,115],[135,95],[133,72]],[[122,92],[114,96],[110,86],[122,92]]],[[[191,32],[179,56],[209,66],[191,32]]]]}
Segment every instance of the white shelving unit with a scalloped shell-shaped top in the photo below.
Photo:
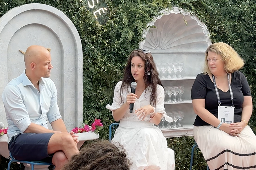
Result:
{"type": "Polygon", "coordinates": [[[184,113],[184,118],[181,120],[183,127],[161,128],[161,131],[165,137],[192,136],[196,114],[190,93],[196,76],[202,72],[205,62],[204,53],[211,44],[211,40],[206,25],[190,13],[177,7],[165,9],[162,13],[163,15],[148,23],[149,27],[143,32],[145,39],[140,43],[140,48],[151,51],[156,66],[159,66],[157,70],[160,72],[160,80],[164,87],[180,85],[185,88],[182,94],[184,101],[165,103],[166,113],[179,110],[184,113]],[[174,66],[174,63],[181,62],[184,68],[178,71],[176,76],[182,77],[167,78],[174,77],[174,70],[170,71],[171,67],[168,70],[168,65],[173,63],[174,66]],[[161,72],[160,67],[163,65],[167,67],[169,75],[166,75],[166,69],[161,72]],[[163,75],[165,77],[162,77],[163,75]]]}

